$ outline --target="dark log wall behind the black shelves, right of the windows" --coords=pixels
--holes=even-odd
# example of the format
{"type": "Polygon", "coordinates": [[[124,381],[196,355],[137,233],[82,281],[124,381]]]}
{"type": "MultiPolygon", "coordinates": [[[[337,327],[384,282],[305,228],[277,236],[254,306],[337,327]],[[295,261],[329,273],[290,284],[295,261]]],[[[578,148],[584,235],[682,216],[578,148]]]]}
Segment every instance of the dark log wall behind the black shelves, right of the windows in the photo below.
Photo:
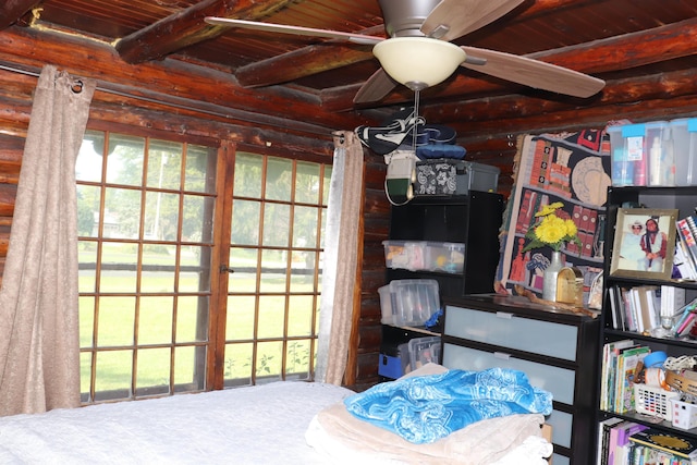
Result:
{"type": "MultiPolygon", "coordinates": [[[[647,44],[647,48],[650,45],[647,44]]],[[[628,59],[628,58],[627,58],[628,59]]],[[[468,101],[426,105],[427,121],[447,124],[457,131],[457,143],[467,149],[466,158],[501,170],[499,192],[508,198],[513,186],[516,139],[523,134],[559,133],[580,129],[602,129],[608,122],[671,120],[697,115],[697,69],[686,66],[635,79],[609,82],[598,97],[578,106],[558,103],[534,96],[502,96],[468,101]]],[[[384,250],[389,233],[389,205],[383,201],[384,168],[372,157],[368,166],[367,188],[374,203],[366,201],[366,237],[363,267],[356,382],[362,388],[378,380],[380,303],[378,287],[384,285],[384,250]]],[[[366,196],[366,200],[370,197],[366,196]]]]}

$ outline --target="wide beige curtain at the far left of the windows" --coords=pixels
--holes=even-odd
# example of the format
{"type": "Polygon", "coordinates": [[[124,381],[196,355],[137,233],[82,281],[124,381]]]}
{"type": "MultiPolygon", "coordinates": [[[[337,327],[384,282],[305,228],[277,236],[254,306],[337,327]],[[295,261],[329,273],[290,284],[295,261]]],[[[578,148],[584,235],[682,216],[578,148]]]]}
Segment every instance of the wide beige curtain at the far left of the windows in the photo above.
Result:
{"type": "Polygon", "coordinates": [[[0,290],[0,415],[80,405],[75,160],[95,83],[38,78],[0,290]]]}

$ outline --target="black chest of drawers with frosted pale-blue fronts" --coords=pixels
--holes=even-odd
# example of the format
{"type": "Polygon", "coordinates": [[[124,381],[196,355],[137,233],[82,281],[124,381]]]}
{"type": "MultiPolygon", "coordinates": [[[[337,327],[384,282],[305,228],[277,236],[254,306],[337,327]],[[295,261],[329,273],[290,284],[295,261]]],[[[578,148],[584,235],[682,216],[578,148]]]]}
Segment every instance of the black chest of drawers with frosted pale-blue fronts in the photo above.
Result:
{"type": "Polygon", "coordinates": [[[442,365],[519,369],[552,393],[554,465],[594,463],[598,364],[597,318],[531,304],[523,297],[445,299],[442,365]]]}

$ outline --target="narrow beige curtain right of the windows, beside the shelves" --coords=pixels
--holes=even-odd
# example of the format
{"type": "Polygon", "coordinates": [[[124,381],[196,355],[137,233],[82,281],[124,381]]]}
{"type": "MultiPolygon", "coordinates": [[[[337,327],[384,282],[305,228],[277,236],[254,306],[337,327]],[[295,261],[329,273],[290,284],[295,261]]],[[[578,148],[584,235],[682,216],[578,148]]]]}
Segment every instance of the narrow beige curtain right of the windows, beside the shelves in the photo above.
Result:
{"type": "Polygon", "coordinates": [[[352,131],[334,135],[327,227],[319,342],[315,379],[341,384],[346,369],[358,266],[360,207],[363,205],[363,147],[352,131]]]}

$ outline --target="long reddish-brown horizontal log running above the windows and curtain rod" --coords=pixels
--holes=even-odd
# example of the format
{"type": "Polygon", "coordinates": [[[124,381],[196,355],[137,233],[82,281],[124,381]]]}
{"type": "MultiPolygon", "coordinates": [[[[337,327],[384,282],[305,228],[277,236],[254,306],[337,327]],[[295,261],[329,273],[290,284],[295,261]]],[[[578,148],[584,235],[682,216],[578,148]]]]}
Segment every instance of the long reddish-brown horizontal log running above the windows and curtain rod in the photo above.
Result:
{"type": "MultiPolygon", "coordinates": [[[[10,27],[0,32],[0,63],[40,70],[51,62],[81,77],[98,79],[98,86],[144,101],[192,107],[228,115],[229,121],[262,125],[296,133],[355,127],[369,119],[358,113],[325,112],[319,98],[288,88],[260,90],[240,87],[228,73],[191,66],[179,60],[124,64],[112,47],[80,37],[10,27]],[[64,50],[71,50],[69,56],[64,50]]],[[[1,109],[1,107],[0,107],[1,109]]],[[[329,132],[327,132],[329,134],[329,132]]]]}

